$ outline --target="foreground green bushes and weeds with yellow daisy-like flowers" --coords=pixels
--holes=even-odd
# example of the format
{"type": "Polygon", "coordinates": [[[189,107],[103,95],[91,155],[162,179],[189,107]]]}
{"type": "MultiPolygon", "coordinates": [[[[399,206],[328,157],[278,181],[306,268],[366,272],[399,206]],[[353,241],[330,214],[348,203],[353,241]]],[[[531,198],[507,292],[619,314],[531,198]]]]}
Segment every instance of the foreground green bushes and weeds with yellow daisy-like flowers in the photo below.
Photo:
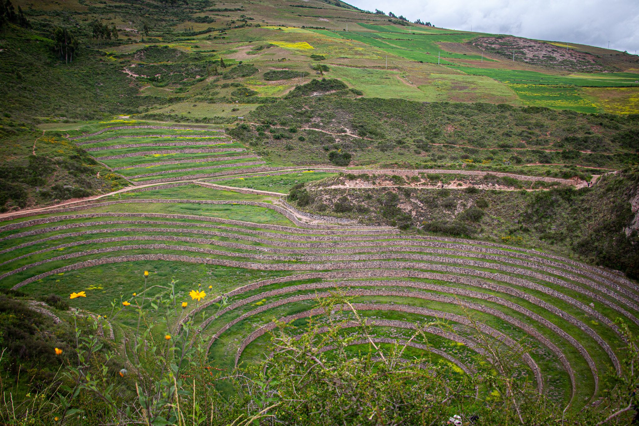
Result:
{"type": "MultiPolygon", "coordinates": [[[[98,336],[100,328],[108,325],[105,317],[96,317],[82,331],[74,314],[75,354],[56,347],[55,356],[69,353],[66,367],[47,380],[48,386],[22,400],[13,400],[13,388],[3,380],[3,394],[12,404],[0,407],[0,421],[8,425],[441,425],[459,416],[464,425],[628,425],[635,415],[638,339],[620,320],[627,339],[621,348],[626,354],[624,375],[606,377],[601,404],[578,411],[539,395],[534,383],[518,374],[527,347],[509,348],[481,337],[481,324],[472,317],[468,319],[480,336],[478,352],[484,355],[474,361],[473,374],[464,374],[447,361],[404,359],[408,342],[428,346],[426,330],[452,330],[447,323],[413,324],[410,339],[381,346],[374,342],[374,323],[361,317],[344,294],[336,289],[329,298],[318,299],[313,315],[300,326],[277,321],[266,360],[223,374],[213,374],[206,365],[206,344],[192,336],[192,319],[185,314],[185,303],[176,302],[174,285],[166,298],[146,301],[142,293],[141,298],[134,294],[112,303],[110,321],[134,308],[139,324],[151,324],[146,329],[138,326],[125,342],[125,368],[114,367],[123,360],[116,361],[118,354],[104,349],[98,336]],[[347,348],[354,344],[367,344],[369,350],[353,357],[347,348]]],[[[84,292],[71,295],[82,296],[84,292]]],[[[207,297],[201,289],[190,296],[196,305],[207,297]]],[[[221,300],[219,306],[225,303],[221,300]]]]}

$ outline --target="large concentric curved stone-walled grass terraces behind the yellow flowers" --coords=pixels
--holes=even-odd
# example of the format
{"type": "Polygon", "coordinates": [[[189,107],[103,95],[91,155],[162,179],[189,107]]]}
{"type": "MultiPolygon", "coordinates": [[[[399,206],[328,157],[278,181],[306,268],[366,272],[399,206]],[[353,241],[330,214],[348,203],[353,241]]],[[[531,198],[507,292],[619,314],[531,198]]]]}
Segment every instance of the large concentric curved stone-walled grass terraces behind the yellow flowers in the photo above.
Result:
{"type": "MultiPolygon", "coordinates": [[[[193,286],[211,285],[206,303],[187,312],[217,368],[259,360],[272,318],[304,321],[317,296],[341,287],[374,321],[379,342],[402,339],[415,322],[449,321],[454,333],[427,330],[431,346],[415,341],[411,353],[468,374],[478,339],[468,315],[488,339],[517,347],[525,338],[531,350],[521,374],[574,407],[599,398],[604,372],[620,371],[615,319],[639,325],[639,288],[610,270],[486,241],[321,218],[308,224],[266,195],[162,187],[142,188],[135,199],[6,217],[3,287],[32,296],[82,289],[88,297],[81,306],[105,314],[121,293],[136,300],[128,294],[140,294],[141,283],[132,277],[144,270],[150,300],[172,277],[180,279],[181,299],[193,286]],[[221,296],[228,305],[218,311],[221,296]]],[[[121,356],[134,316],[110,324],[121,356]]]]}

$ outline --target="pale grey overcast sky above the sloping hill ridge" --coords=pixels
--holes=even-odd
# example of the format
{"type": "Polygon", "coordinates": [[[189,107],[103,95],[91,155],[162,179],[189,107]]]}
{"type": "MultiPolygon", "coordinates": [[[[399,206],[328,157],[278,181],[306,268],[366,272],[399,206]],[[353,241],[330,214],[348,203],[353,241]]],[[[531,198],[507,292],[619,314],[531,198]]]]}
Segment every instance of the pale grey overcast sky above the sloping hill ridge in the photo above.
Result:
{"type": "Polygon", "coordinates": [[[351,0],[411,22],[482,33],[608,47],[634,54],[639,49],[639,0],[351,0]]]}

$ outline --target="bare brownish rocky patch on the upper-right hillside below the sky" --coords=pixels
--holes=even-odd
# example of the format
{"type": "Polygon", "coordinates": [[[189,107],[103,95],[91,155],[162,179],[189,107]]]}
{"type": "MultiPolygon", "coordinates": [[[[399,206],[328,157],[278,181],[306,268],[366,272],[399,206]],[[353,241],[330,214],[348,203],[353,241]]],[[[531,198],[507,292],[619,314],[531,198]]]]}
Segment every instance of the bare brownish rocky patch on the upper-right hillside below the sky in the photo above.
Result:
{"type": "MultiPolygon", "coordinates": [[[[561,48],[550,43],[537,42],[527,38],[513,36],[480,37],[473,40],[472,45],[486,52],[532,65],[559,68],[562,70],[604,71],[611,70],[599,58],[574,49],[561,48]]],[[[617,70],[615,68],[614,70],[617,70]]]]}

